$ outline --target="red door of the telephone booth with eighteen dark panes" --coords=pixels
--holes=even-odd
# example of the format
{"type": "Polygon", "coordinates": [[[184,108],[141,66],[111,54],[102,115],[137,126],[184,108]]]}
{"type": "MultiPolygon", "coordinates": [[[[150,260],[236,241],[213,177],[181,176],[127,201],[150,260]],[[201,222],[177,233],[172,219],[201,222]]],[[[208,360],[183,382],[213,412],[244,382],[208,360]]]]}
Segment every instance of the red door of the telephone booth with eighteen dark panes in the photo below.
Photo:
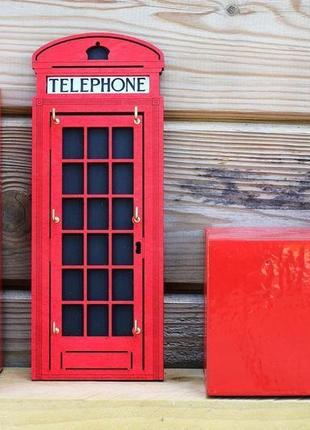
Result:
{"type": "Polygon", "coordinates": [[[51,127],[51,369],[142,368],[142,134],[132,116],[51,127]]]}

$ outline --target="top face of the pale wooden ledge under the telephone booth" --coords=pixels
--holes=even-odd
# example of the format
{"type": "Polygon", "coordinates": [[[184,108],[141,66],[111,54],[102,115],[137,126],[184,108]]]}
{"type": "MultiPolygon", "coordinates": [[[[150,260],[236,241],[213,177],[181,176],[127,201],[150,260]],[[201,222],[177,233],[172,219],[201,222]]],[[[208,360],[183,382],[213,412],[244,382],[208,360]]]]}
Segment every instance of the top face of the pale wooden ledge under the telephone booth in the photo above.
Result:
{"type": "Polygon", "coordinates": [[[112,399],[120,402],[197,401],[206,397],[201,369],[165,369],[164,383],[80,381],[77,389],[72,381],[31,381],[29,368],[7,367],[0,381],[0,403],[6,399],[101,400],[104,403],[112,399]]]}

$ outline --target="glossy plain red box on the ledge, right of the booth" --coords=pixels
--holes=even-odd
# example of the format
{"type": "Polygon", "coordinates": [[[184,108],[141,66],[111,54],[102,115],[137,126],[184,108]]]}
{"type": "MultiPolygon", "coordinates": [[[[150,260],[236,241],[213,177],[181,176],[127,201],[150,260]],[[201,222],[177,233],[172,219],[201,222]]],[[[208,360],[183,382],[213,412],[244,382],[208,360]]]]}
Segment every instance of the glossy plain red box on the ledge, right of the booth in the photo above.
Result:
{"type": "Polygon", "coordinates": [[[310,230],[207,229],[210,396],[310,394],[310,230]]]}

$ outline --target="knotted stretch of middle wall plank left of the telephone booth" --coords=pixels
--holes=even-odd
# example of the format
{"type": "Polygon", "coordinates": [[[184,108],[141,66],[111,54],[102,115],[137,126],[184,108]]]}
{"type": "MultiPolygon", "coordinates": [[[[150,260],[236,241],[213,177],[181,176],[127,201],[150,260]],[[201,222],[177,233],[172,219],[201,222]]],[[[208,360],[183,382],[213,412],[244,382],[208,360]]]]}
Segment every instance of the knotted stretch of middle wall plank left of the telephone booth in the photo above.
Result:
{"type": "Polygon", "coordinates": [[[4,120],[1,167],[3,276],[8,279],[29,279],[31,129],[29,121],[21,125],[19,121],[11,120],[9,127],[6,124],[4,120]]]}

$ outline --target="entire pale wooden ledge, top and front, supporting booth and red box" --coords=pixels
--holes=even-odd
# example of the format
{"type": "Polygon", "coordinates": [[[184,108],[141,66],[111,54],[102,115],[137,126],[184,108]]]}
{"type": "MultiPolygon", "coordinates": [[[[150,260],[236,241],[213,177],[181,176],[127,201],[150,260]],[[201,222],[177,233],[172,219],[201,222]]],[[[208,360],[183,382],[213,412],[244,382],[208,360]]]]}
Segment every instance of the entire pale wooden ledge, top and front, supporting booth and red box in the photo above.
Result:
{"type": "Polygon", "coordinates": [[[205,398],[197,369],[167,370],[159,383],[31,382],[28,369],[4,369],[0,376],[5,430],[307,430],[309,402],[205,398]]]}

